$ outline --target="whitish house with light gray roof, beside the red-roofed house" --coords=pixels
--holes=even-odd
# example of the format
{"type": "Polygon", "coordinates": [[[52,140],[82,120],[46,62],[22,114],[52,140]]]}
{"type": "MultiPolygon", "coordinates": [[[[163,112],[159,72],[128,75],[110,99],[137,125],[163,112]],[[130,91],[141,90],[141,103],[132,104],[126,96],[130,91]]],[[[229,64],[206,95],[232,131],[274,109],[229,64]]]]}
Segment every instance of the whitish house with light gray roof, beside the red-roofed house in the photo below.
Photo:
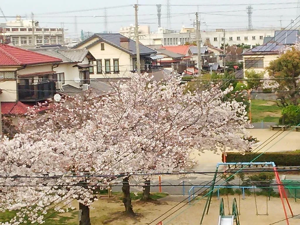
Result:
{"type": "Polygon", "coordinates": [[[53,68],[56,72],[56,88],[65,91],[67,89],[77,88],[80,92],[87,89],[90,85],[90,73],[94,73],[94,56],[87,49],[57,49],[57,48],[36,48],[32,51],[44,55],[60,58],[60,62],[53,68]],[[86,87],[83,87],[86,84],[86,87]],[[72,86],[72,87],[69,87],[72,86]]]}

